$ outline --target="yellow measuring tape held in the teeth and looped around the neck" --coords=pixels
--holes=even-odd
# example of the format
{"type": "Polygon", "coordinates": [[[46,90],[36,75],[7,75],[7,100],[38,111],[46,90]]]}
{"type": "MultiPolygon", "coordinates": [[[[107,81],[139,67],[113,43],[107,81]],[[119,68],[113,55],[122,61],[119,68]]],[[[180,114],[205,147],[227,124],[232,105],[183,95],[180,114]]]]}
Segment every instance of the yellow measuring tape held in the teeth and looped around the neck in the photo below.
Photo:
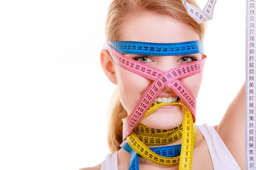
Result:
{"type": "MultiPolygon", "coordinates": [[[[143,119],[160,107],[167,105],[183,106],[183,124],[170,130],[154,129],[139,123],[127,136],[124,142],[128,142],[130,147],[140,156],[155,164],[171,166],[180,164],[179,170],[192,170],[193,149],[197,139],[197,127],[193,123],[192,114],[181,102],[162,103],[153,102],[145,113],[143,119]],[[180,155],[176,157],[165,157],[154,153],[147,146],[159,146],[171,144],[182,138],[180,155]]],[[[129,115],[122,119],[124,123],[129,115]]],[[[143,120],[142,119],[142,120],[143,120]]]]}

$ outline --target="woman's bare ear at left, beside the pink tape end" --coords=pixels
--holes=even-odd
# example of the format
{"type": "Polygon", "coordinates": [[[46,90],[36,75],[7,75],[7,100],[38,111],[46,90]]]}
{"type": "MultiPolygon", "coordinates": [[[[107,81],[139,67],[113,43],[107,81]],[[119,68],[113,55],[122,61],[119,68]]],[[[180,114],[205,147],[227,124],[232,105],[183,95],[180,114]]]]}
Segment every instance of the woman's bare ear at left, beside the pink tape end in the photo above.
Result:
{"type": "Polygon", "coordinates": [[[107,50],[100,51],[100,64],[102,65],[102,69],[109,81],[111,81],[114,85],[117,85],[116,81],[116,73],[114,70],[113,59],[107,50]]]}

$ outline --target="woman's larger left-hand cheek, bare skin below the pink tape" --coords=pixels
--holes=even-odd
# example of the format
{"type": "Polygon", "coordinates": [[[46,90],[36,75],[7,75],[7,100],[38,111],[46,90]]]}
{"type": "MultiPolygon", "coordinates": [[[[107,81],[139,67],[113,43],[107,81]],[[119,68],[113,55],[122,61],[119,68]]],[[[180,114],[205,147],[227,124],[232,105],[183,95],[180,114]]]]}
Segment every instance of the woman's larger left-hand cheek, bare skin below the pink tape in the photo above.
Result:
{"type": "Polygon", "coordinates": [[[143,93],[153,82],[122,67],[116,68],[116,80],[120,102],[128,114],[133,111],[143,93]]]}

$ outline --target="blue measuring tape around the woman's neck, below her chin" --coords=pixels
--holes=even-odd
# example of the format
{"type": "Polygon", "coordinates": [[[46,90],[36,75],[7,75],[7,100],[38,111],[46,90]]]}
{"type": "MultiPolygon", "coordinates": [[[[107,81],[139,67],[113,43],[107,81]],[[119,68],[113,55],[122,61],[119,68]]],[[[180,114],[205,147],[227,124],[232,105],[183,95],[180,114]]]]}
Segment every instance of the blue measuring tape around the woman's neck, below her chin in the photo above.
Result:
{"type": "MultiPolygon", "coordinates": [[[[129,170],[139,170],[138,156],[140,155],[136,153],[126,142],[122,142],[122,144],[120,144],[120,147],[122,147],[127,152],[131,153],[129,170]]],[[[152,150],[154,153],[157,153],[158,155],[171,158],[180,155],[181,144],[161,147],[150,147],[149,149],[152,150]]]]}

